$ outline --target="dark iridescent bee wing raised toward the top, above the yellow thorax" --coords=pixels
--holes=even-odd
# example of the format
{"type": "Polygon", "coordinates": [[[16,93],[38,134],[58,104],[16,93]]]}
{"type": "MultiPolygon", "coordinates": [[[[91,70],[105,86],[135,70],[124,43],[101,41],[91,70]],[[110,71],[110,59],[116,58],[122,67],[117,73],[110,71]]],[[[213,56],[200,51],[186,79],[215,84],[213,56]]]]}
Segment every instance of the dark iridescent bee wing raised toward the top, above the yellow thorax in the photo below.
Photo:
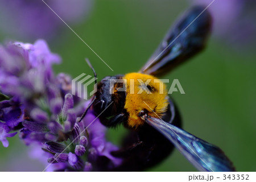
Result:
{"type": "Polygon", "coordinates": [[[196,6],[184,14],[141,69],[161,76],[204,48],[212,18],[205,7],[196,6]]]}

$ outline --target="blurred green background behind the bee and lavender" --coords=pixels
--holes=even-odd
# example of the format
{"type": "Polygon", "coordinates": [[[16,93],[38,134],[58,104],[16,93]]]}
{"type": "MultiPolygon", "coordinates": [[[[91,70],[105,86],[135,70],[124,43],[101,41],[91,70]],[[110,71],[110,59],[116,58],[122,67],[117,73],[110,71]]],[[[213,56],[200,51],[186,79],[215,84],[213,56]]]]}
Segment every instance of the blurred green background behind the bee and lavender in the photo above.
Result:
{"type": "MultiPolygon", "coordinates": [[[[88,57],[101,79],[138,71],[175,19],[193,3],[205,2],[211,1],[88,1],[84,17],[69,25],[113,72],[60,19],[57,19],[57,31],[37,37],[24,35],[20,24],[8,23],[15,18],[15,12],[12,18],[2,14],[0,40],[1,43],[6,40],[34,43],[37,38],[44,38],[52,52],[63,59],[62,64],[55,65],[56,73],[66,72],[73,77],[92,74],[84,61],[88,57]],[[6,31],[13,29],[18,31],[6,31]]],[[[221,147],[238,171],[256,171],[256,35],[255,13],[250,13],[256,12],[255,3],[237,0],[231,6],[228,2],[216,0],[210,8],[214,28],[207,48],[163,78],[178,78],[183,86],[185,94],[172,94],[183,118],[183,128],[221,147]]],[[[0,6],[7,10],[7,6],[0,6]]],[[[46,5],[42,2],[42,6],[46,5]]],[[[58,6],[54,10],[58,13],[58,6]]],[[[53,13],[48,10],[46,14],[53,13]]],[[[40,22],[40,15],[36,18],[40,22]]],[[[51,23],[55,23],[53,19],[47,22],[49,26],[51,23]]],[[[126,132],[122,127],[111,129],[108,138],[118,144],[126,132]]],[[[43,164],[30,158],[30,148],[20,142],[18,135],[9,142],[8,148],[0,144],[0,171],[43,171],[43,164]]],[[[196,169],[175,150],[163,163],[148,171],[196,169]]]]}

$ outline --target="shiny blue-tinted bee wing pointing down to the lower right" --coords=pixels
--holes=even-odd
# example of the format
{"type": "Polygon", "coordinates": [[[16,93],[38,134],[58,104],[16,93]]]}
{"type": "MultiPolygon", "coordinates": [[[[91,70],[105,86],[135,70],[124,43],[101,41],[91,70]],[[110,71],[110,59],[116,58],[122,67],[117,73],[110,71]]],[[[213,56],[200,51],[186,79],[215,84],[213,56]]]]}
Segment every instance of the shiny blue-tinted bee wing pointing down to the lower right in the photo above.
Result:
{"type": "Polygon", "coordinates": [[[232,162],[217,146],[162,119],[147,117],[145,121],[167,137],[199,171],[235,171],[232,162]]]}

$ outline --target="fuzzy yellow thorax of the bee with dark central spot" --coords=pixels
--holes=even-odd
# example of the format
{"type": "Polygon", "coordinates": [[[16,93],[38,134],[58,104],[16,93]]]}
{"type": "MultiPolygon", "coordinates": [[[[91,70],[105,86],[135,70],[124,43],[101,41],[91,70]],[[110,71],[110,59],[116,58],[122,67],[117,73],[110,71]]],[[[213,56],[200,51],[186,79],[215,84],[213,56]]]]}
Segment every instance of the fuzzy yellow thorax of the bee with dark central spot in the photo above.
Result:
{"type": "Polygon", "coordinates": [[[158,78],[142,73],[128,73],[123,78],[126,83],[125,109],[129,113],[127,121],[129,127],[137,129],[137,127],[144,124],[143,119],[139,117],[139,113],[143,110],[147,110],[148,115],[156,118],[167,110],[168,97],[166,85],[158,78]],[[143,84],[149,81],[148,79],[150,79],[150,82],[143,84]],[[163,84],[163,86],[161,87],[160,84],[163,84]],[[160,90],[161,88],[162,90],[160,90]],[[150,89],[151,92],[148,92],[150,89]]]}

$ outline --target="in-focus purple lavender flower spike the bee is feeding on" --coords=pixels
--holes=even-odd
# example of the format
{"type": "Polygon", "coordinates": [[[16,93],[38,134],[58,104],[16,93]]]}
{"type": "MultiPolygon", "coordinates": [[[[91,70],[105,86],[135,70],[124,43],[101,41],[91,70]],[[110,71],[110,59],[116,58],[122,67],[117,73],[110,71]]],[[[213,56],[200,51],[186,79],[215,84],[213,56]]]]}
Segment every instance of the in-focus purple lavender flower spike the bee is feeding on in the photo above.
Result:
{"type": "Polygon", "coordinates": [[[55,77],[51,65],[60,61],[44,40],[0,46],[0,141],[7,147],[6,137],[19,130],[34,148],[31,156],[48,162],[46,171],[118,167],[122,160],[110,154],[118,147],[106,141],[106,128],[93,111],[77,123],[89,102],[72,96],[69,76],[55,77]]]}

